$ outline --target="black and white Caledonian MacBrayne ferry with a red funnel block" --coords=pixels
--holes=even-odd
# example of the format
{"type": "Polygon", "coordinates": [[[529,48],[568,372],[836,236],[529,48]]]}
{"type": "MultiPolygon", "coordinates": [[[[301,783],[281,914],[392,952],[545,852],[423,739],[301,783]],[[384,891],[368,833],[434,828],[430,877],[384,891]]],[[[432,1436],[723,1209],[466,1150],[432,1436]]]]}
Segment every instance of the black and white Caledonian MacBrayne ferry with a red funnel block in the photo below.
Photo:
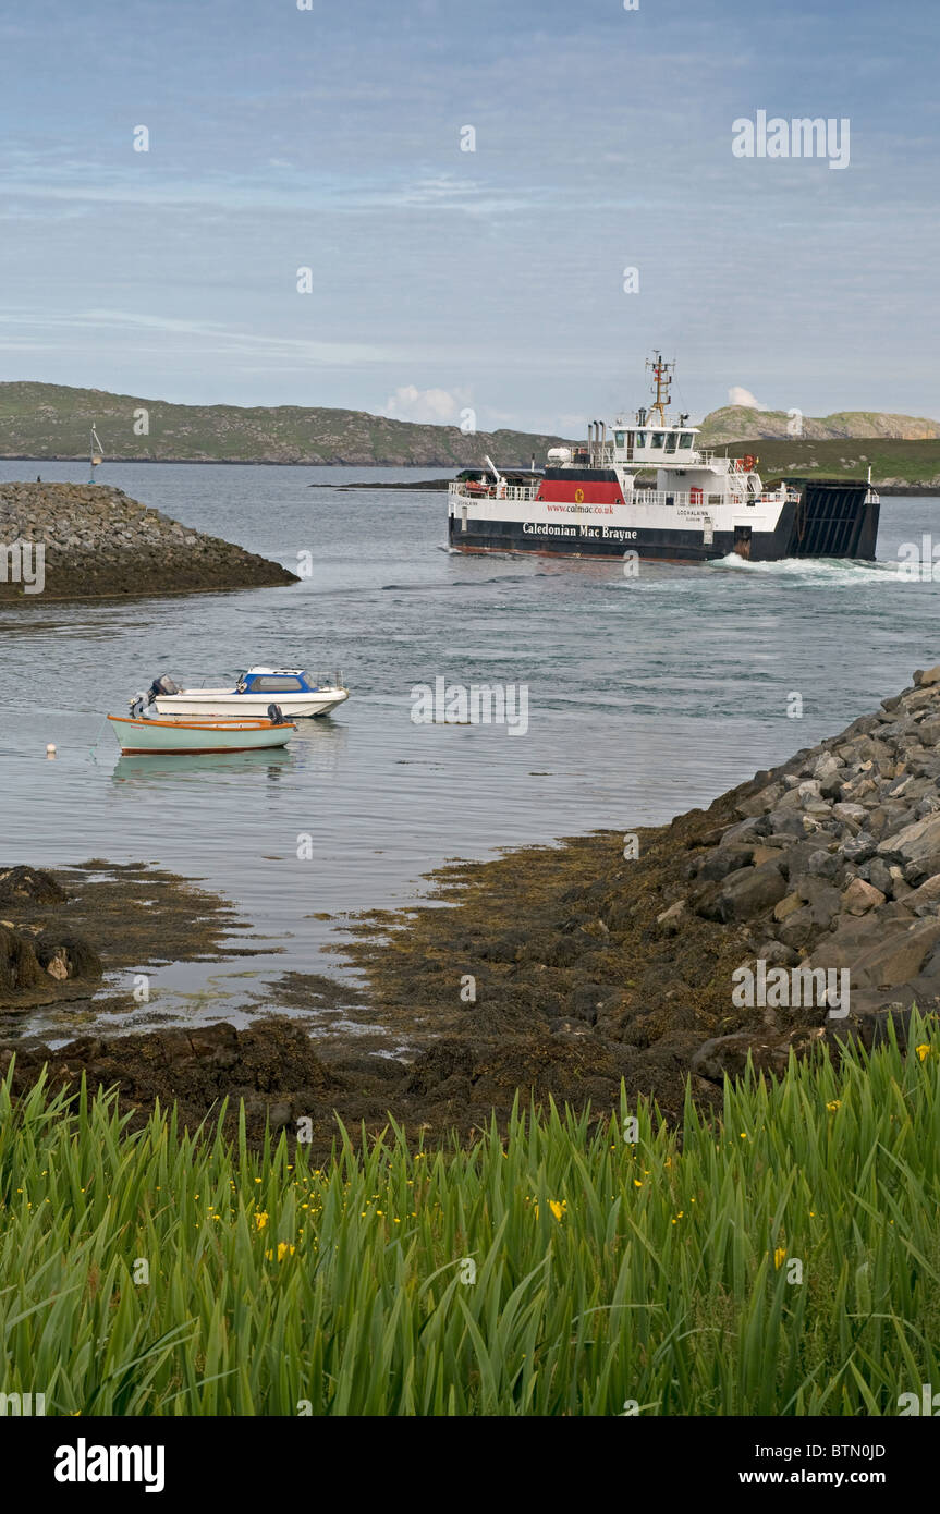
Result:
{"type": "Polygon", "coordinates": [[[448,486],[448,544],[460,553],[540,553],[699,563],[736,553],[873,560],[879,500],[869,480],[784,480],[764,489],[757,457],[701,448],[669,416],[675,363],[655,353],[654,401],[631,421],[592,421],[587,442],[549,448],[543,469],[465,468],[448,486]]]}

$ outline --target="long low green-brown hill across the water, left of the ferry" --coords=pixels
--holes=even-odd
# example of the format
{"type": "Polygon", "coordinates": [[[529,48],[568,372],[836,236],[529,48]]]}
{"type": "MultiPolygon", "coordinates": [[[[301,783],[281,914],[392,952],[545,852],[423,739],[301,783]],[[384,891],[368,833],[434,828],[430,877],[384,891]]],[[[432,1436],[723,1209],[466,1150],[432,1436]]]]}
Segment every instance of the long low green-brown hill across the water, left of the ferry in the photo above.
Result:
{"type": "Polygon", "coordinates": [[[300,406],[170,404],[103,389],[0,383],[0,457],[88,457],[89,427],[104,456],[123,462],[351,463],[468,468],[539,463],[560,436],[465,433],[457,425],[392,421],[365,410],[300,406]],[[147,412],[148,430],[141,431],[147,412]],[[136,427],[136,430],[135,430],[136,427]]]}

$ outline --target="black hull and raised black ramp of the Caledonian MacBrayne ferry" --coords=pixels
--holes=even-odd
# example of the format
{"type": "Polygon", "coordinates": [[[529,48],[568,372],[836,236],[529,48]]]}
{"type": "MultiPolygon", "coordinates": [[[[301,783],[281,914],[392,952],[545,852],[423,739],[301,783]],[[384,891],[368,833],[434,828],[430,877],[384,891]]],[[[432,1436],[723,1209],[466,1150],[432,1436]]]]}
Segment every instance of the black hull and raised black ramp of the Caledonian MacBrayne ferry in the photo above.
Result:
{"type": "MultiPolygon", "coordinates": [[[[599,525],[556,525],[546,521],[448,519],[448,540],[462,553],[534,553],[551,557],[612,559],[634,551],[640,559],[702,563],[739,553],[749,562],[784,557],[842,557],[873,562],[879,506],[867,500],[867,484],[807,484],[799,504],[786,504],[772,531],[740,528],[628,530],[599,525]]],[[[536,506],[537,509],[537,506],[536,506]]]]}

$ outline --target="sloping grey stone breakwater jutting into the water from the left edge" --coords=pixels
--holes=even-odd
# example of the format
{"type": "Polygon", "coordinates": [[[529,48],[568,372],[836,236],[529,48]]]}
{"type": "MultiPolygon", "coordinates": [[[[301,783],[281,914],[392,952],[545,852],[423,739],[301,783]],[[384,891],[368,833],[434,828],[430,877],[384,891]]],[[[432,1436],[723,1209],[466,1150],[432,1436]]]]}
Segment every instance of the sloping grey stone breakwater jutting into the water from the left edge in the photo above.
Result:
{"type": "Polygon", "coordinates": [[[106,484],[0,483],[0,604],[297,583],[106,484]]]}

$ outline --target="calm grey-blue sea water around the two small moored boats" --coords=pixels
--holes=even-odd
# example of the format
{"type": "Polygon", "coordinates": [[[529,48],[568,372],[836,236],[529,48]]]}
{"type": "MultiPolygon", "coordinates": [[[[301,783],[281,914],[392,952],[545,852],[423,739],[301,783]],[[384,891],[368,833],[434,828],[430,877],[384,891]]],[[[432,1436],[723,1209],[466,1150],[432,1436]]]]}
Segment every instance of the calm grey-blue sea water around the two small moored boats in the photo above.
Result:
{"type": "MultiPolygon", "coordinates": [[[[86,480],[86,465],[0,462],[0,480],[38,472],[86,480]]],[[[0,860],[150,860],[226,893],[272,949],[159,969],[151,1008],[168,1017],[239,1019],[274,974],[331,970],[336,924],[313,916],[421,898],[445,858],[707,804],[940,657],[938,586],[896,572],[937,500],[882,501],[875,565],[625,578],[618,562],[453,556],[440,494],[310,488],[434,471],[129,463],[98,477],[286,566],[313,560],[286,589],[160,600],[157,572],[153,598],[0,607],[0,860]],[[157,674],[203,683],[250,663],[342,668],[351,698],[274,755],[120,759],[101,730],[157,674]],[[413,724],[412,686],[436,677],[527,684],[527,734],[413,724]],[[787,716],[793,692],[802,719],[787,716]]]]}

